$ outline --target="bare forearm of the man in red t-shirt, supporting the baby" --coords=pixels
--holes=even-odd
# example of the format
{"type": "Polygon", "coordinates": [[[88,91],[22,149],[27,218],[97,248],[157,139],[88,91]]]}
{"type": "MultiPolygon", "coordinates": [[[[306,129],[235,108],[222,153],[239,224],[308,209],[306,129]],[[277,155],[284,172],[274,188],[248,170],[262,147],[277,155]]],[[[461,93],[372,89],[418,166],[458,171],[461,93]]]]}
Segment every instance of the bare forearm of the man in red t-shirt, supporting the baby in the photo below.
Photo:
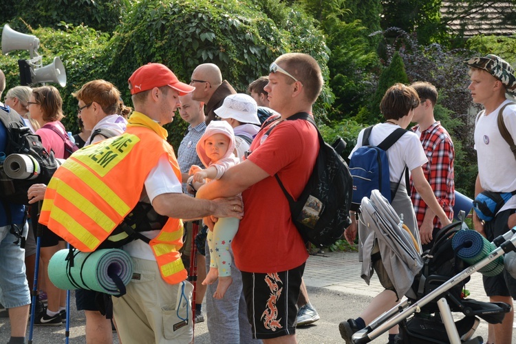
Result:
{"type": "Polygon", "coordinates": [[[230,197],[241,193],[267,178],[269,174],[250,160],[241,162],[224,173],[219,180],[205,184],[197,191],[197,198],[213,200],[217,197],[230,197]]]}

